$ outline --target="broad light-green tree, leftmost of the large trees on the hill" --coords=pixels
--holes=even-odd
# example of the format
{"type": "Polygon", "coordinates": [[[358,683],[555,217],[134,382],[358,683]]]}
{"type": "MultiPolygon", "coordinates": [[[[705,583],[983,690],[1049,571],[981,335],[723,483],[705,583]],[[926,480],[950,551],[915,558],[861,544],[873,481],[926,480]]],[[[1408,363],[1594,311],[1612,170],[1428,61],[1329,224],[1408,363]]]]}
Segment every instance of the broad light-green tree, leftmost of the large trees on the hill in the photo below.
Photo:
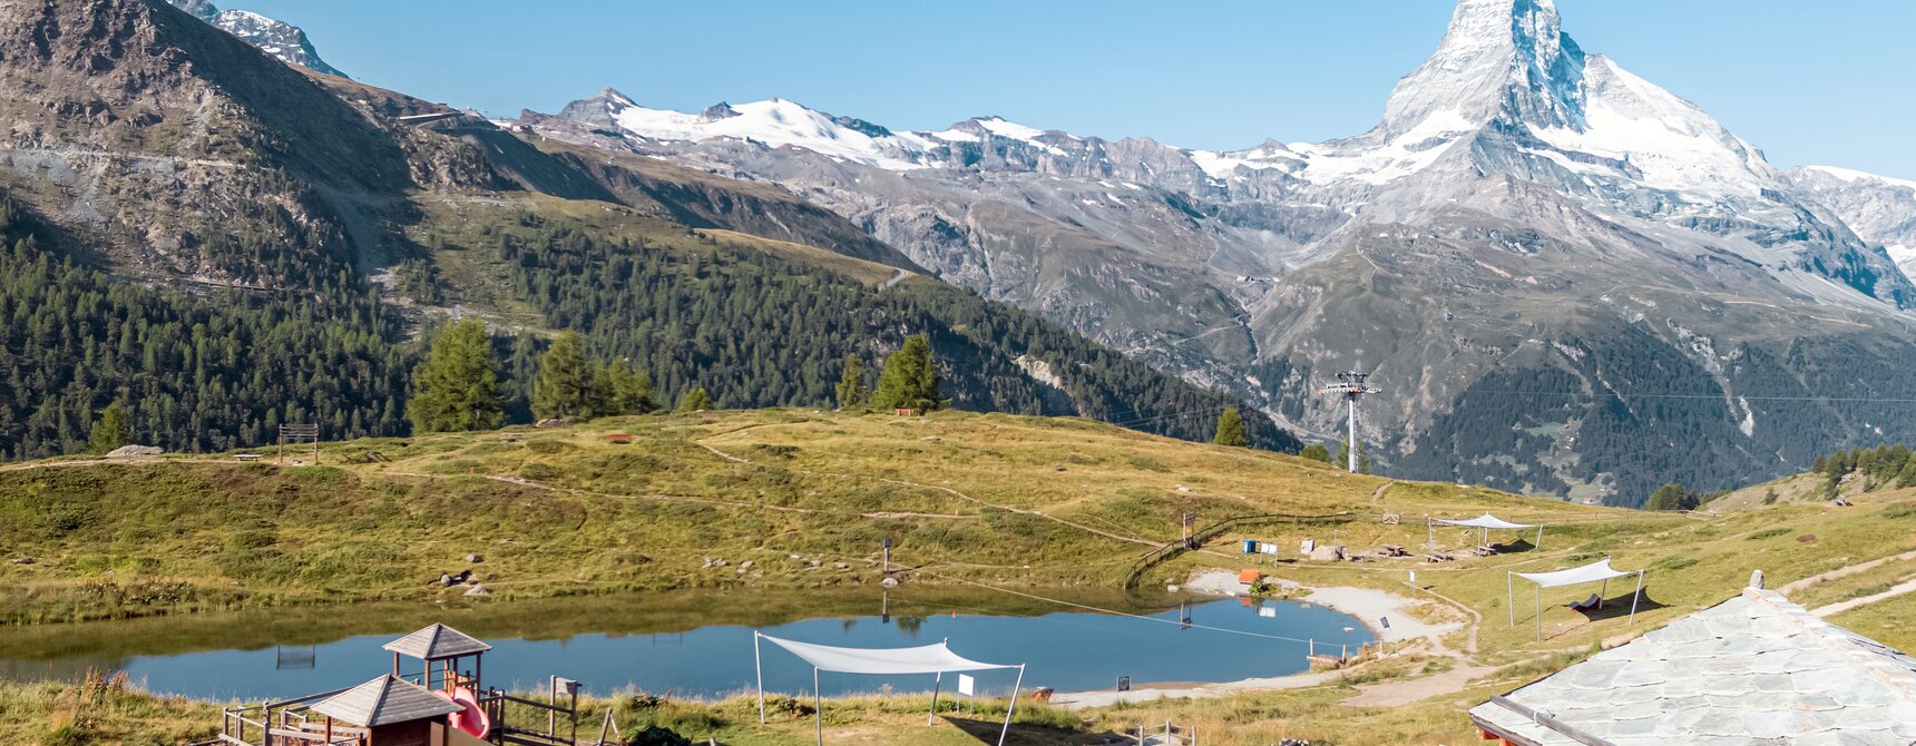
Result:
{"type": "Polygon", "coordinates": [[[506,419],[492,335],[479,319],[454,321],[412,369],[406,419],[414,432],[487,430],[506,419]]]}

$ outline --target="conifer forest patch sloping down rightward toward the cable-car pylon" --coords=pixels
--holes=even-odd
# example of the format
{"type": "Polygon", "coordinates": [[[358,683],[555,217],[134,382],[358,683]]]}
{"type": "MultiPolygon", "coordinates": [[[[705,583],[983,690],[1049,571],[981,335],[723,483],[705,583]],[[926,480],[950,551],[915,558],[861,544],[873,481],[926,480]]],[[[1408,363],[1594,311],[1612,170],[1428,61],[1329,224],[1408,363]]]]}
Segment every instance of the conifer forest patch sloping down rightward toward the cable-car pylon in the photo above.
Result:
{"type": "MultiPolygon", "coordinates": [[[[696,251],[665,249],[640,235],[596,237],[569,218],[535,212],[481,241],[489,245],[468,249],[496,251],[513,291],[552,327],[577,329],[586,348],[634,360],[665,400],[705,388],[724,407],[833,406],[845,392],[881,407],[883,381],[860,400],[856,384],[845,386],[845,360],[868,367],[918,333],[937,365],[914,375],[922,383],[931,373],[941,398],[958,409],[1083,415],[1207,440],[1232,404],[948,285],[878,289],[711,237],[699,237],[696,251]],[[1019,356],[1058,371],[1065,396],[1033,381],[1019,356]]],[[[1301,446],[1263,413],[1247,411],[1243,421],[1251,446],[1301,446]]]]}

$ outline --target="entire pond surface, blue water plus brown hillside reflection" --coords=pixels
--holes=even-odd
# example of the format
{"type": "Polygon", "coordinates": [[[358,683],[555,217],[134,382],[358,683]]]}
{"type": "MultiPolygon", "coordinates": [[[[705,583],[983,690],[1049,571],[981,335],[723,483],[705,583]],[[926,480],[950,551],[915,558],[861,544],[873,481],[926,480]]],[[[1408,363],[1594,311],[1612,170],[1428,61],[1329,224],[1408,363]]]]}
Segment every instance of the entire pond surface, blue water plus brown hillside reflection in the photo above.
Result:
{"type": "MultiPolygon", "coordinates": [[[[789,597],[782,597],[780,603],[787,601],[789,597]]],[[[740,604],[753,604],[753,593],[734,591],[701,599],[661,593],[586,603],[525,601],[443,614],[443,620],[492,645],[492,652],[485,656],[485,679],[494,687],[542,689],[546,675],[556,673],[581,681],[594,694],[642,689],[697,698],[751,689],[753,625],[776,637],[845,647],[906,647],[948,639],[952,650],[966,658],[1025,662],[1027,687],[1060,691],[1107,689],[1119,675],[1142,685],[1236,681],[1307,668],[1305,643],[1259,635],[1314,639],[1318,652],[1335,652],[1341,645],[1355,652],[1358,645],[1372,641],[1370,631],[1355,618],[1303,603],[1199,599],[1182,608],[1121,608],[1111,599],[1100,603],[1100,608],[1146,618],[1031,603],[994,608],[998,603],[991,597],[975,595],[860,591],[826,604],[837,606],[826,612],[793,610],[787,614],[793,618],[786,620],[740,620],[736,610],[740,604]],[[569,612],[569,622],[561,629],[529,624],[525,616],[540,614],[540,604],[550,604],[559,616],[569,612]],[[680,624],[621,622],[644,618],[663,606],[678,608],[673,618],[680,624]],[[855,606],[864,612],[853,612],[855,606]],[[696,618],[684,622],[684,608],[713,608],[711,624],[696,618]],[[1190,625],[1180,624],[1182,620],[1190,625]]],[[[285,698],[351,687],[391,669],[391,654],[379,647],[435,620],[431,610],[420,608],[333,608],[308,614],[387,616],[391,622],[368,622],[370,627],[333,635],[320,631],[320,639],[312,637],[312,625],[276,620],[305,631],[276,635],[245,618],[218,614],[63,625],[65,629],[42,629],[44,643],[0,645],[0,677],[71,677],[86,668],[105,668],[126,671],[155,692],[213,700],[285,698]],[[98,639],[90,641],[90,635],[98,639]],[[222,639],[241,643],[220,648],[222,639]],[[282,641],[289,645],[270,645],[282,641]]],[[[768,691],[810,691],[810,668],[770,645],[764,647],[764,675],[768,691]]],[[[985,671],[977,675],[977,685],[979,694],[1004,692],[1012,687],[1012,673],[985,671]]],[[[883,687],[929,691],[931,679],[822,679],[828,696],[883,687]]]]}

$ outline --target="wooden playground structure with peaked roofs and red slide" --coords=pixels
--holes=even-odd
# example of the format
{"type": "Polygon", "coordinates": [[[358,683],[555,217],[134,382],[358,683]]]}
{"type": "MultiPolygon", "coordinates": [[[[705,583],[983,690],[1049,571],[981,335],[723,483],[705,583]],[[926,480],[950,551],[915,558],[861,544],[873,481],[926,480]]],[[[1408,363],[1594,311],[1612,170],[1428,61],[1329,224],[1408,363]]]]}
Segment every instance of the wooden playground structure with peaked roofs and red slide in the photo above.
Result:
{"type": "Polygon", "coordinates": [[[577,681],[550,677],[544,702],[487,687],[485,652],[492,647],[458,629],[433,624],[383,648],[393,654],[391,673],[330,692],[226,708],[218,738],[203,744],[625,746],[611,712],[596,735],[579,740],[577,681]]]}

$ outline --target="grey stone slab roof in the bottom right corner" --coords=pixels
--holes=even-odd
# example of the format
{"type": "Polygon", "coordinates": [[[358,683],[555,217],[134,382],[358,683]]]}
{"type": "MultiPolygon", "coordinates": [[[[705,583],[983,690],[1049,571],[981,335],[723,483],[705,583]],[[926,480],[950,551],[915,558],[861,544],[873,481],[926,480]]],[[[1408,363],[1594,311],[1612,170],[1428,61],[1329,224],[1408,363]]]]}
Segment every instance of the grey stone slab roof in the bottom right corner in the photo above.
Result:
{"type": "Polygon", "coordinates": [[[1504,698],[1471,721],[1523,746],[1916,744],[1916,658],[1755,587],[1504,698]]]}

